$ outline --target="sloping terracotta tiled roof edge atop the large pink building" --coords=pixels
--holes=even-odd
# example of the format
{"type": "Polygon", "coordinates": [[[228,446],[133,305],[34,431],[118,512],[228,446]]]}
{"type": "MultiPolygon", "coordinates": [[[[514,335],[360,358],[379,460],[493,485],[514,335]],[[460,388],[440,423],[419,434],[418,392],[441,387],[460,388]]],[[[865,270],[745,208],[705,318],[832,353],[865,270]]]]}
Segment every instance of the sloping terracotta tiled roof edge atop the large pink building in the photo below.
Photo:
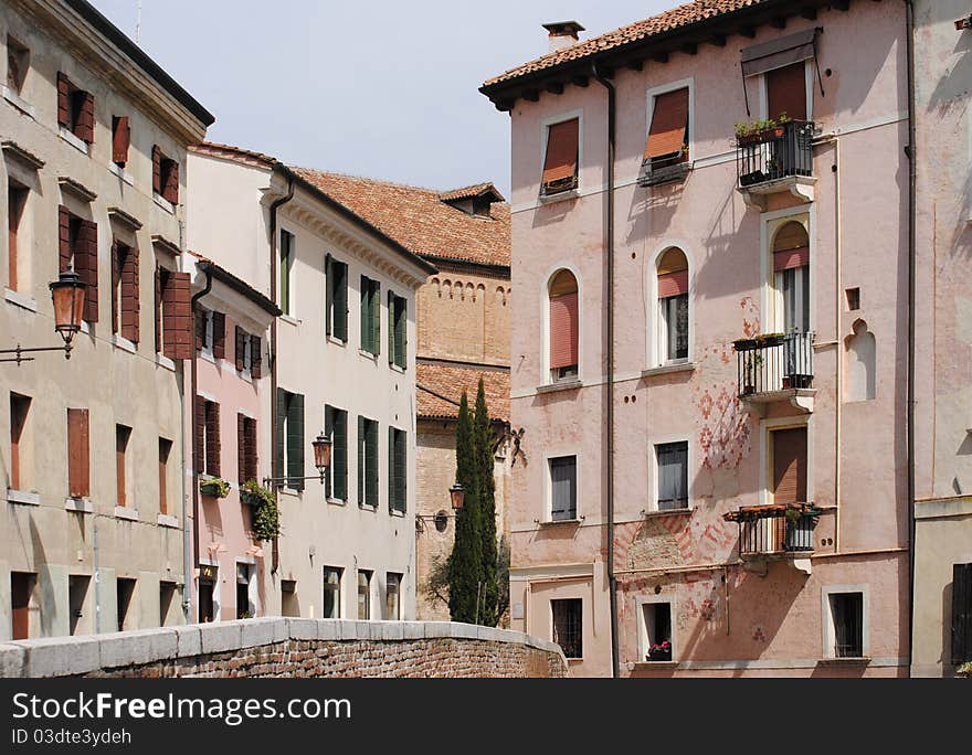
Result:
{"type": "Polygon", "coordinates": [[[600,36],[592,36],[589,40],[583,40],[569,47],[558,50],[543,55],[542,57],[530,61],[529,63],[517,66],[516,68],[511,68],[510,71],[494,76],[487,81],[484,84],[484,87],[510,82],[530,73],[543,71],[546,68],[553,68],[562,63],[579,61],[605,50],[620,47],[621,45],[631,42],[647,40],[656,34],[670,32],[680,26],[687,26],[742,8],[759,6],[768,1],[769,0],[695,0],[695,2],[687,2],[684,6],[678,6],[678,8],[673,8],[664,13],[658,13],[644,21],[631,23],[621,29],[610,31],[606,34],[601,34],[600,36]]]}

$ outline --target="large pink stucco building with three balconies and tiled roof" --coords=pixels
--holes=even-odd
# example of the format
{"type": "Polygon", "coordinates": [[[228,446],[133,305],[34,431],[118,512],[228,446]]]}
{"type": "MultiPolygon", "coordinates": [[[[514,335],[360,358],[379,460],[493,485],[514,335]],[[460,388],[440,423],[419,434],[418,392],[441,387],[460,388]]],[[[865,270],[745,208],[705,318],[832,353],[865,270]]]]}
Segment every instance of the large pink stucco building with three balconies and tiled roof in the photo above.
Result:
{"type": "Polygon", "coordinates": [[[548,31],[482,89],[513,129],[513,627],[577,676],[907,674],[905,3],[548,31]]]}

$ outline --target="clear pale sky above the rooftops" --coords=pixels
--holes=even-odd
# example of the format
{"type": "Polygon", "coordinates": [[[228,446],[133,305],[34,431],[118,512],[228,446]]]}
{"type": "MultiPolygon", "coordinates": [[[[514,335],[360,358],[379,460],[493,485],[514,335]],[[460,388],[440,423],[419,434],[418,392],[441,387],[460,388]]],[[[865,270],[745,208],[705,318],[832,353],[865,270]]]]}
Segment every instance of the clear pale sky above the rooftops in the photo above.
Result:
{"type": "MultiPolygon", "coordinates": [[[[138,0],[93,0],[135,39],[138,0]]],[[[547,52],[674,0],[142,0],[142,49],[216,116],[209,138],[286,162],[450,189],[509,190],[509,117],[480,95],[547,52]]]]}

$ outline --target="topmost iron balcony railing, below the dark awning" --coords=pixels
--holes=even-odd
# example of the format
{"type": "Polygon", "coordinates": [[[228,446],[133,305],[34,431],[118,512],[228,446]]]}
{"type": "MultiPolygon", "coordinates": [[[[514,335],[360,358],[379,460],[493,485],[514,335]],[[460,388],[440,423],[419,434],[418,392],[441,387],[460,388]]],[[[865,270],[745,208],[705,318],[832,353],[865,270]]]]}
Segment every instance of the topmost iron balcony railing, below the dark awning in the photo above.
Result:
{"type": "Polygon", "coordinates": [[[790,176],[813,174],[814,124],[789,120],[736,137],[736,169],[742,189],[790,176]]]}

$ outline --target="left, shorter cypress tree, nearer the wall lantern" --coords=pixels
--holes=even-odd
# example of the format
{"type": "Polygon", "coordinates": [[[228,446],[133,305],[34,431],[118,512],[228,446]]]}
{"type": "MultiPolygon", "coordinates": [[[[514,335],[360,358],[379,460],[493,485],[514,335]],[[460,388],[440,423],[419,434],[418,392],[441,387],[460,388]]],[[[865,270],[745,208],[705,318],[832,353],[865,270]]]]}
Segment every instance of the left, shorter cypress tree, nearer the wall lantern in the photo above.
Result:
{"type": "Polygon", "coordinates": [[[465,490],[465,503],[455,512],[455,542],[448,557],[448,613],[453,621],[476,621],[480,592],[483,546],[479,534],[479,480],[476,440],[469,401],[463,392],[456,426],[456,482],[465,490]]]}

